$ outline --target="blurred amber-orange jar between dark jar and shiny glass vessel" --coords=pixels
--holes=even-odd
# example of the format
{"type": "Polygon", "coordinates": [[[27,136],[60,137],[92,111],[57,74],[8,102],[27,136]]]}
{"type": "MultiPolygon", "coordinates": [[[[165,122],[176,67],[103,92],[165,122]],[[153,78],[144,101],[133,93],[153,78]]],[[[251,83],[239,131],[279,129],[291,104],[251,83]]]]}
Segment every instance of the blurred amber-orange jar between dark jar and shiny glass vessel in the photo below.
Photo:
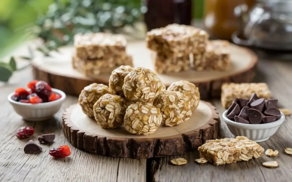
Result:
{"type": "Polygon", "coordinates": [[[238,20],[234,8],[246,4],[251,8],[256,0],[205,0],[204,25],[212,38],[231,39],[231,34],[238,29],[238,20]]]}

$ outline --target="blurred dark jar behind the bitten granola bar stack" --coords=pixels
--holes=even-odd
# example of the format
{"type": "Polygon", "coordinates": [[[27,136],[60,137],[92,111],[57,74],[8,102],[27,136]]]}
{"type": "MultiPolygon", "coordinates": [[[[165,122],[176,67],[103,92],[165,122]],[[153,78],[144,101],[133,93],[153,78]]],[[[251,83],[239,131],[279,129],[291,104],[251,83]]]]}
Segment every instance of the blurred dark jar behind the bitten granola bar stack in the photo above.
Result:
{"type": "Polygon", "coordinates": [[[191,23],[192,0],[142,0],[142,5],[147,7],[144,20],[148,31],[173,23],[191,23]]]}

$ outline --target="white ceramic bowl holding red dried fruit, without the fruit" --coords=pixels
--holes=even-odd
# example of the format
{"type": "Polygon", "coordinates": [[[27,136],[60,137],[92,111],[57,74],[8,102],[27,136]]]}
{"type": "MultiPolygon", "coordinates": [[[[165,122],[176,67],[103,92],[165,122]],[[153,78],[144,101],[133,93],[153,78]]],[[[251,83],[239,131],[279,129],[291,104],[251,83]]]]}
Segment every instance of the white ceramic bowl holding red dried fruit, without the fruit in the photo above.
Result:
{"type": "Polygon", "coordinates": [[[52,89],[53,93],[58,93],[62,97],[58,100],[54,100],[48,103],[30,104],[20,103],[11,99],[14,92],[8,95],[8,101],[13,106],[15,112],[23,117],[27,121],[42,121],[49,119],[59,111],[62,103],[66,99],[66,94],[58,89],[52,89]]]}

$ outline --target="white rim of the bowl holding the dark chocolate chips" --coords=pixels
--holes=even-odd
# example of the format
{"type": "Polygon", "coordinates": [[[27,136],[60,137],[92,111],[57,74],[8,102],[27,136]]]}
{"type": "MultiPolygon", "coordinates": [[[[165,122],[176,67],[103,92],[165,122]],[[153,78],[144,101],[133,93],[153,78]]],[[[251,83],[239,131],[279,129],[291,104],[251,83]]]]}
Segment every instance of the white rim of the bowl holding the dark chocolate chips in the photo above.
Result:
{"type": "Polygon", "coordinates": [[[235,121],[231,121],[227,118],[227,110],[223,112],[222,114],[223,119],[227,124],[230,124],[235,127],[245,128],[245,129],[253,129],[253,130],[260,130],[260,129],[268,129],[268,128],[274,128],[276,126],[281,125],[285,120],[285,115],[281,112],[281,117],[277,121],[274,121],[272,123],[266,123],[266,124],[244,124],[244,123],[237,123],[235,121]]]}

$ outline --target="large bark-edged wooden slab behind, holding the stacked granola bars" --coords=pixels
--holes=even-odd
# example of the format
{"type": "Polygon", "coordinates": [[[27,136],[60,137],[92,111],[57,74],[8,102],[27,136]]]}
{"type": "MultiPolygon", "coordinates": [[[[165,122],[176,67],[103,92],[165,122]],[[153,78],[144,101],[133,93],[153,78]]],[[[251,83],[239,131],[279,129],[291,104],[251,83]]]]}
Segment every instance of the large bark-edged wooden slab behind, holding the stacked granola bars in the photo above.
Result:
{"type": "MultiPolygon", "coordinates": [[[[146,48],[145,41],[128,42],[127,51],[133,56],[134,67],[144,67],[154,70],[153,53],[146,48]]],[[[194,71],[180,73],[158,74],[166,86],[181,79],[190,81],[199,87],[201,99],[220,97],[221,85],[225,82],[251,82],[254,78],[254,68],[258,61],[251,50],[231,44],[232,69],[228,71],[194,71]]],[[[44,80],[52,87],[70,95],[79,95],[81,90],[93,83],[108,84],[110,74],[89,78],[72,68],[71,58],[73,47],[63,47],[51,57],[36,55],[32,62],[35,79],[44,80]]]]}

